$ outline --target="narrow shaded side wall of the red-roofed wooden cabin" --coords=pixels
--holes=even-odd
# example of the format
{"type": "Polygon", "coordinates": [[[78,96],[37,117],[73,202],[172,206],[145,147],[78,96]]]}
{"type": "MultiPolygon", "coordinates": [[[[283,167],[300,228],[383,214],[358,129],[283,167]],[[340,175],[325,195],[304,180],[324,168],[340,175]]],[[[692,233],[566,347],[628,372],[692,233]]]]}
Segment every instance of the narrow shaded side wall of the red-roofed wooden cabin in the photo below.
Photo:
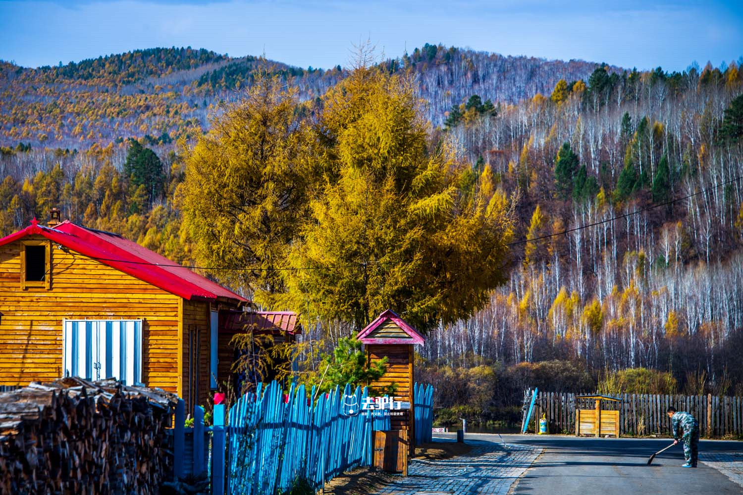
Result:
{"type": "Polygon", "coordinates": [[[210,304],[206,301],[183,302],[183,395],[186,410],[195,405],[206,406],[210,396],[210,304]],[[195,363],[195,376],[189,379],[192,370],[192,356],[197,350],[192,349],[198,337],[198,363],[195,363]],[[198,387],[193,387],[198,381],[198,387]],[[198,388],[198,390],[192,390],[198,388]],[[197,395],[198,394],[198,395],[197,395]],[[195,403],[194,403],[195,401],[195,403]]]}

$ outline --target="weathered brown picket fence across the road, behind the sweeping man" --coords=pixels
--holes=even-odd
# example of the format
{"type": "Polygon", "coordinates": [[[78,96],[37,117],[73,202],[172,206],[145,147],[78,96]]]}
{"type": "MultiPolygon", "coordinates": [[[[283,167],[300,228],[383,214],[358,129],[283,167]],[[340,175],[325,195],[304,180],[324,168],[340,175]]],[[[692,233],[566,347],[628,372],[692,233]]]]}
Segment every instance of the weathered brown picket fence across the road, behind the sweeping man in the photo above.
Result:
{"type": "MultiPolygon", "coordinates": [[[[534,431],[542,414],[550,424],[550,433],[575,433],[575,410],[594,409],[592,399],[575,399],[574,393],[539,392],[534,402],[529,429],[534,431]],[[535,423],[536,422],[536,423],[535,423]]],[[[585,394],[578,394],[585,395],[585,394]]],[[[701,436],[706,438],[743,435],[743,397],[680,396],[623,393],[614,395],[621,402],[602,401],[603,410],[619,410],[621,435],[671,435],[666,416],[669,406],[692,413],[698,420],[701,436]]],[[[531,401],[531,390],[525,399],[531,401]]],[[[525,409],[528,409],[527,402],[525,409]]]]}

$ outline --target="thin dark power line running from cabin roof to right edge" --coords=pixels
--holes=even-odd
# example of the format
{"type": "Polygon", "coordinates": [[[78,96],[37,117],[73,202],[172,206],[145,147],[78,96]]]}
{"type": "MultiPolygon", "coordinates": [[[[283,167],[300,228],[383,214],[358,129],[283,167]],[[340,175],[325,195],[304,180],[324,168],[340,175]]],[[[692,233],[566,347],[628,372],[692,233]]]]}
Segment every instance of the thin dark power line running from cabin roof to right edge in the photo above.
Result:
{"type": "MultiPolygon", "coordinates": [[[[550,237],[558,237],[560,235],[566,235],[570,234],[571,232],[577,232],[579,230],[583,229],[589,229],[591,227],[603,225],[604,223],[614,222],[615,220],[622,220],[623,218],[630,217],[635,214],[640,214],[643,212],[648,212],[649,210],[660,208],[661,206],[669,206],[673,203],[678,203],[679,201],[688,200],[691,197],[698,196],[699,194],[704,194],[706,192],[712,191],[713,189],[717,189],[721,186],[727,186],[727,184],[734,183],[738,180],[743,179],[743,175],[736,177],[734,179],[726,180],[723,183],[715,184],[714,186],[710,186],[707,189],[702,189],[701,191],[697,191],[692,194],[687,194],[684,197],[677,197],[673,200],[666,201],[664,203],[658,203],[650,206],[646,206],[645,208],[636,209],[634,212],[627,212],[625,214],[620,214],[615,217],[606,218],[605,220],[600,220],[598,222],[594,223],[587,223],[582,226],[573,227],[572,229],[565,229],[562,232],[555,232],[554,234],[548,234],[548,235],[542,235],[540,237],[534,237],[533,239],[525,239],[525,240],[516,240],[511,243],[505,243],[505,244],[499,244],[496,246],[493,246],[489,251],[492,251],[492,249],[498,248],[498,247],[510,247],[510,246],[519,246],[521,244],[536,242],[537,240],[544,240],[549,239],[550,237]]],[[[152,263],[151,261],[130,261],[130,260],[120,260],[115,258],[97,258],[94,256],[89,256],[88,258],[91,258],[93,260],[97,261],[110,261],[110,262],[116,262],[116,263],[128,263],[128,264],[135,264],[135,265],[149,265],[149,266],[160,266],[161,268],[186,268],[186,269],[201,269],[201,270],[210,270],[210,271],[230,271],[230,270],[242,270],[242,271],[262,271],[267,272],[269,270],[273,270],[276,272],[288,272],[288,271],[299,271],[299,270],[328,270],[328,269],[340,269],[340,268],[357,268],[358,266],[366,266],[368,264],[377,264],[377,265],[392,265],[392,264],[398,264],[398,263],[405,263],[405,261],[371,261],[371,262],[365,262],[365,263],[353,263],[348,265],[331,265],[331,266],[296,266],[291,268],[264,268],[261,266],[253,266],[253,267],[236,267],[236,266],[197,266],[197,265],[179,265],[177,263],[174,264],[163,264],[163,263],[152,263]]]]}

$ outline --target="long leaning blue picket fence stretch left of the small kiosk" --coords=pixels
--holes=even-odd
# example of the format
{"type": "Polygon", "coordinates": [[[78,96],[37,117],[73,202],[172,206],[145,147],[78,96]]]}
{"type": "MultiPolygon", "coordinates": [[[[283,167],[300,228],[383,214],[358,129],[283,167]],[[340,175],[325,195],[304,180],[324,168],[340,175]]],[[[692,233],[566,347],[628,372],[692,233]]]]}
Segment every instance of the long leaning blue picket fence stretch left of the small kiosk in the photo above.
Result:
{"type": "Polygon", "coordinates": [[[285,396],[273,382],[230,409],[228,493],[275,494],[299,479],[313,488],[343,471],[371,463],[371,430],[389,428],[361,411],[366,389],[336,387],[317,403],[305,387],[285,396]]]}

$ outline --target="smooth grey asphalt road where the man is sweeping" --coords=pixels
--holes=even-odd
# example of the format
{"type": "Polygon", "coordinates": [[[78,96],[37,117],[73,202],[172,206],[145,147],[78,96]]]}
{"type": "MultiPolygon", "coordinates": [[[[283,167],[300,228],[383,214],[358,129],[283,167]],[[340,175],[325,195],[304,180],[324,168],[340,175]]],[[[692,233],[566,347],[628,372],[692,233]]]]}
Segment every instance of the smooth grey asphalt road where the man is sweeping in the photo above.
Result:
{"type": "MultiPolygon", "coordinates": [[[[501,442],[497,435],[467,434],[467,439],[501,442]]],[[[681,445],[647,465],[649,456],[669,445],[669,439],[591,439],[574,436],[504,435],[507,443],[544,449],[542,455],[511,488],[530,495],[655,495],[743,494],[743,487],[716,469],[681,468],[681,445]]],[[[702,440],[700,453],[736,453],[743,442],[702,440]]]]}

